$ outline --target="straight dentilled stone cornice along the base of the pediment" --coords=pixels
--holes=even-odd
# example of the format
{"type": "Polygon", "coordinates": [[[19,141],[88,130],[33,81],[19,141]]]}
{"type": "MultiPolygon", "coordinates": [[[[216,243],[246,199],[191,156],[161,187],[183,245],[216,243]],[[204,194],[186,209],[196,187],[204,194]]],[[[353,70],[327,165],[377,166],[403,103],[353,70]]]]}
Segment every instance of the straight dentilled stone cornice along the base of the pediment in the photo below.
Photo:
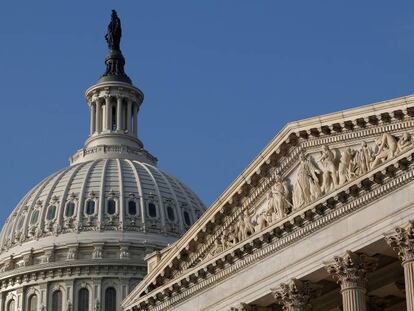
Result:
{"type": "Polygon", "coordinates": [[[150,291],[130,310],[163,310],[414,180],[413,150],[150,291]],[[392,174],[391,174],[392,172],[392,174]],[[391,175],[390,175],[391,174],[391,175]],[[163,297],[168,297],[163,301],[163,297]],[[156,304],[156,301],[163,301],[156,304]]]}

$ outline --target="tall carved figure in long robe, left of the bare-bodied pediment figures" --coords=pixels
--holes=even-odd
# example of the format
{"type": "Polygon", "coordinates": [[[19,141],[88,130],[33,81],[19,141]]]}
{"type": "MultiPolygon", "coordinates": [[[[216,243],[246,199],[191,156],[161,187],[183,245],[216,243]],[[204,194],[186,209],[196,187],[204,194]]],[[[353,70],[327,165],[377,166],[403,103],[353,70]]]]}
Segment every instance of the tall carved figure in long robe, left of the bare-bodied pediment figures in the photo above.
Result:
{"type": "Polygon", "coordinates": [[[293,185],[292,201],[294,210],[313,201],[321,195],[319,169],[305,155],[301,155],[296,181],[293,185]]]}

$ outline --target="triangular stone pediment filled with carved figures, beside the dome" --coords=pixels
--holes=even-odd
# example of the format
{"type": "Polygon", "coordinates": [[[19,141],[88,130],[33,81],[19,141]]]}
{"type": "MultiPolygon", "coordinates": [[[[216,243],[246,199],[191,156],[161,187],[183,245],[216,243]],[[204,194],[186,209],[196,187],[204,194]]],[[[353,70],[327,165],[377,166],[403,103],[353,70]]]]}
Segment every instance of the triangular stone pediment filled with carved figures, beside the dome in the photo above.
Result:
{"type": "Polygon", "coordinates": [[[380,187],[403,185],[412,135],[414,96],[288,124],[162,254],[123,306],[151,305],[161,289],[170,295],[177,284],[203,279],[273,237],[287,239],[330,210],[351,211],[380,187]]]}

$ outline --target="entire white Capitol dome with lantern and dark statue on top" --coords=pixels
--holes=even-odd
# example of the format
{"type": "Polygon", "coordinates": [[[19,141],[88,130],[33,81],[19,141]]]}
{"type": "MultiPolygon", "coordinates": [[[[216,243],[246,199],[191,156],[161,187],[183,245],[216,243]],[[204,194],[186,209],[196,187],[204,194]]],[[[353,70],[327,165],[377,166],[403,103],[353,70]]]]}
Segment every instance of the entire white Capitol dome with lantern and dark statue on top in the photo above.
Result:
{"type": "Polygon", "coordinates": [[[0,310],[120,311],[144,258],[205,211],[138,138],[144,95],[124,72],[115,11],[106,71],[85,94],[90,133],[70,166],[29,191],[0,235],[0,310]]]}

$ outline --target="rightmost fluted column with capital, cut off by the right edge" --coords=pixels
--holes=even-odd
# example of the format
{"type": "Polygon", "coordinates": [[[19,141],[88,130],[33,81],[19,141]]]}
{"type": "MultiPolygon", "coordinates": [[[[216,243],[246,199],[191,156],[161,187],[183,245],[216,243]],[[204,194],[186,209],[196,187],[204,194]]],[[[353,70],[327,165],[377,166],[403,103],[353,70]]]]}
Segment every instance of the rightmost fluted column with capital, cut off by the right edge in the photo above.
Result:
{"type": "Polygon", "coordinates": [[[407,311],[414,311],[414,222],[395,228],[393,233],[385,235],[385,240],[402,262],[407,311]]]}

